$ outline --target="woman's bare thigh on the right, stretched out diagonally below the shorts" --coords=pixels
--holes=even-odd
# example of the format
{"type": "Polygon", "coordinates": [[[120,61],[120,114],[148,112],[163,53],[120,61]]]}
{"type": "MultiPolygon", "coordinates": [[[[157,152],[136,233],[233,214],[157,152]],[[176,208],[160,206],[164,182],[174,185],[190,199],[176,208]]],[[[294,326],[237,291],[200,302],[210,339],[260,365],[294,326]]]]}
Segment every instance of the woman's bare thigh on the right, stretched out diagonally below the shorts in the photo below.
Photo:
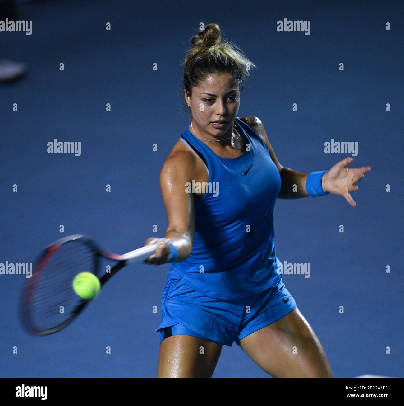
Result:
{"type": "Polygon", "coordinates": [[[274,378],[333,378],[320,340],[297,307],[241,339],[240,346],[274,378]]]}

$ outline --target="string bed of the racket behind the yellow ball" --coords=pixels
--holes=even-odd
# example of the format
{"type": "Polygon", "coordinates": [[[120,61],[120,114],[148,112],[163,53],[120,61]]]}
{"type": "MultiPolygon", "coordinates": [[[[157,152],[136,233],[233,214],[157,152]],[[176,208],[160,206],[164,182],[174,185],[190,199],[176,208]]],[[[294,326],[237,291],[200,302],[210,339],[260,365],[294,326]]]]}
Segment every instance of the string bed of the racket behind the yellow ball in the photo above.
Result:
{"type": "Polygon", "coordinates": [[[80,272],[95,272],[96,255],[84,242],[69,241],[57,251],[49,250],[38,263],[29,289],[30,318],[37,330],[65,322],[83,302],[73,290],[73,279],[80,272]]]}

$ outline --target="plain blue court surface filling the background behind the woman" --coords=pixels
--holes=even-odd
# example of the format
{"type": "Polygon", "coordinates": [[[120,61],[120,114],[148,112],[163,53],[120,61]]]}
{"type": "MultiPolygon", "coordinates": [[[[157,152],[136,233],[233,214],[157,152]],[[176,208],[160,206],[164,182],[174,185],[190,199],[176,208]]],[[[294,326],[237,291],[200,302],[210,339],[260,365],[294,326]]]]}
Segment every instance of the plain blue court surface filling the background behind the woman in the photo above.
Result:
{"type": "MultiPolygon", "coordinates": [[[[276,255],[310,264],[309,278],[283,281],[335,377],[404,377],[403,8],[401,1],[19,3],[32,34],[0,32],[0,59],[28,66],[23,78],[0,83],[0,263],[32,263],[44,246],[75,233],[118,254],[165,233],[159,173],[190,124],[181,114],[181,62],[199,24],[215,22],[258,67],[238,116],[261,119],[283,166],[329,169],[354,153],[326,153],[325,143],[349,142],[351,167],[372,167],[351,193],[355,208],[331,194],[278,199],[276,255]],[[278,32],[284,18],[310,20],[310,35],[278,32]],[[80,142],[80,155],[48,153],[55,139],[80,142]]],[[[0,274],[0,376],[155,377],[154,329],[169,268],[124,268],[73,324],[46,337],[28,335],[19,321],[25,275],[0,274]]],[[[223,347],[213,376],[269,377],[235,343],[223,347]]]]}

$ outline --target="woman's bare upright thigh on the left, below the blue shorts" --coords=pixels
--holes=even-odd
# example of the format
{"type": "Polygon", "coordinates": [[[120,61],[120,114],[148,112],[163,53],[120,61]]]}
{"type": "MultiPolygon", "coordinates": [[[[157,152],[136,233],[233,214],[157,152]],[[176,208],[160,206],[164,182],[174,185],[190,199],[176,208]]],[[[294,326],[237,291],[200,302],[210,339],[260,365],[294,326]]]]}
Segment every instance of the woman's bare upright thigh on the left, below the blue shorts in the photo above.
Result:
{"type": "Polygon", "coordinates": [[[211,378],[222,346],[190,335],[172,335],[160,344],[157,378],[211,378]]]}

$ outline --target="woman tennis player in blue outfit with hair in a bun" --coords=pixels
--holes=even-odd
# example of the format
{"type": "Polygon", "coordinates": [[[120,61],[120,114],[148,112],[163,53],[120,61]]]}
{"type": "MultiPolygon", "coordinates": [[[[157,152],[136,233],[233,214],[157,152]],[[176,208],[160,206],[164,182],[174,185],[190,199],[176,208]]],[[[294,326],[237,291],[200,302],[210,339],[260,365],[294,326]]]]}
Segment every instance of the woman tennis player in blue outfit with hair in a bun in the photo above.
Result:
{"type": "Polygon", "coordinates": [[[251,63],[220,28],[191,38],[184,95],[192,121],[162,165],[168,217],[156,253],[173,262],[162,294],[158,377],[211,377],[223,345],[239,345],[273,377],[333,377],[324,349],[278,272],[276,198],[349,192],[370,167],[299,173],[282,166],[262,122],[238,117],[251,63]]]}

